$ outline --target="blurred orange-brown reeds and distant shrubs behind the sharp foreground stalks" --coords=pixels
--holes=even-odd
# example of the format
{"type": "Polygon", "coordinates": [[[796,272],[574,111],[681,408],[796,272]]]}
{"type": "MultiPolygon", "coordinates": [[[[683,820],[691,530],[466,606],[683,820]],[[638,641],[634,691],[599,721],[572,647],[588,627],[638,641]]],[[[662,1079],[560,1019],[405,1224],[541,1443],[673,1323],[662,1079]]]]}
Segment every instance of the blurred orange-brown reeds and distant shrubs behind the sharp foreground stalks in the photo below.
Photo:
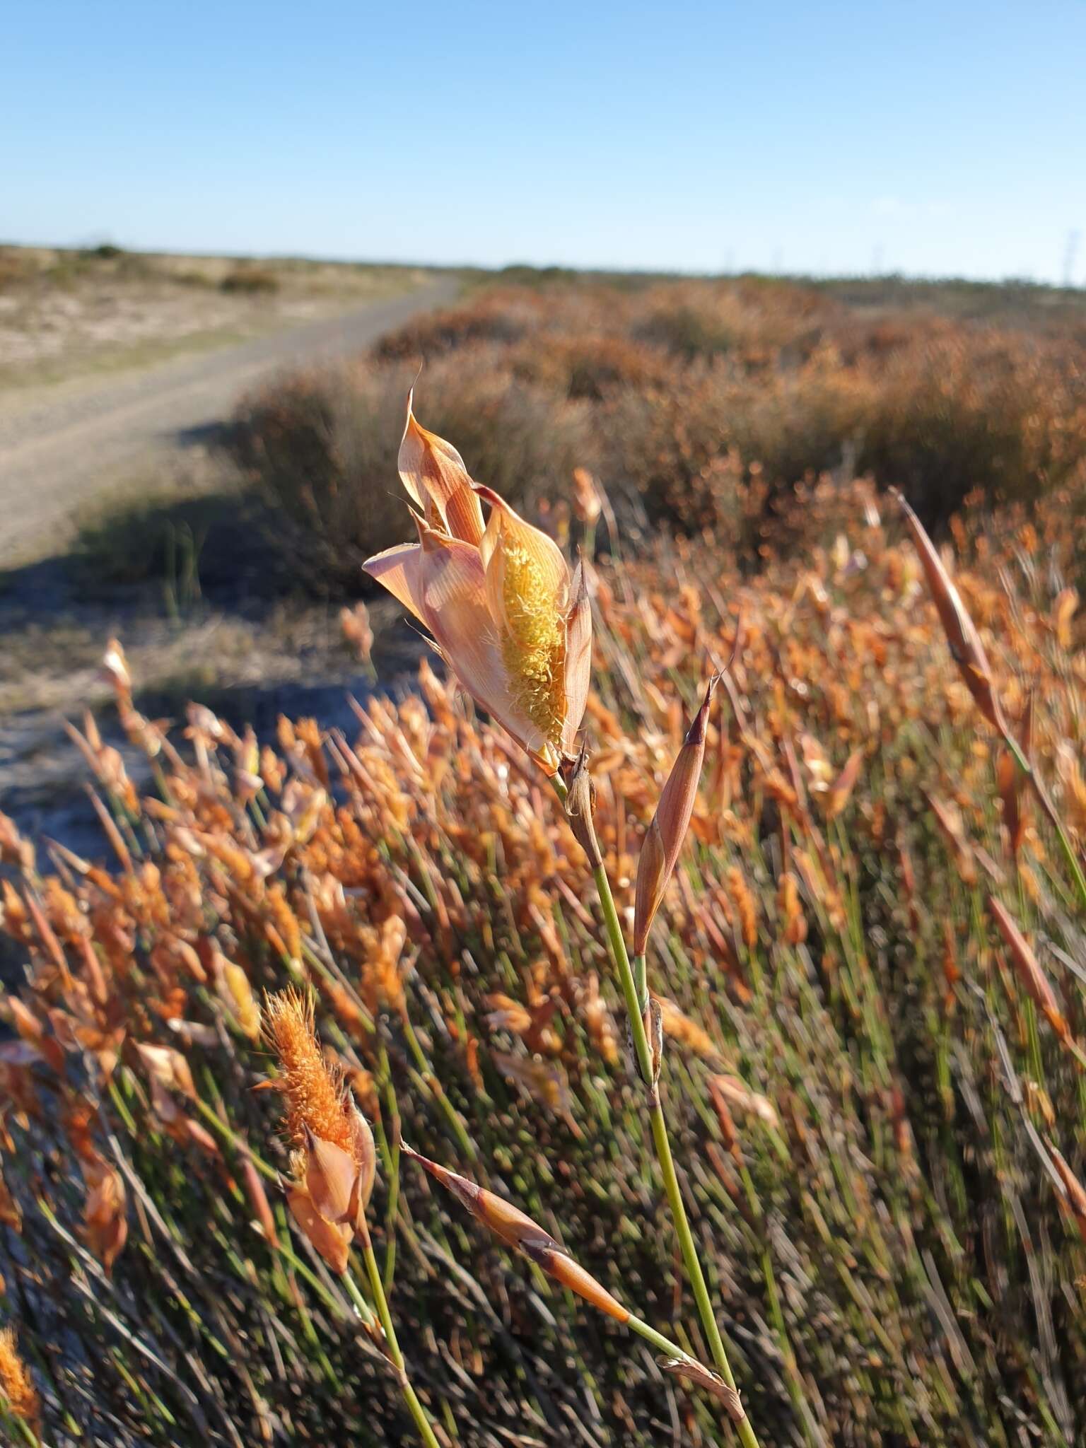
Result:
{"type": "MultiPolygon", "coordinates": [[[[1053,828],[1082,860],[1076,353],[927,320],[885,323],[883,348],[817,292],[712,295],[484,295],[334,385],[255,400],[243,446],[345,578],[405,537],[418,352],[423,420],[563,546],[585,537],[565,471],[607,484],[624,559],[594,571],[585,733],[627,930],[660,788],[731,659],[649,977],[759,1441],[1076,1442],[1086,911],[1053,828]],[[957,660],[876,485],[906,465],[928,517],[953,514],[979,630],[957,660]],[[983,654],[1038,794],[966,686],[983,654]]],[[[313,993],[336,1111],[372,1127],[375,1261],[436,1432],[730,1441],[720,1402],[540,1270],[556,1248],[511,1255],[398,1148],[515,1202],[710,1360],[591,876],[542,773],[427,662],[350,737],[281,718],[274,740],[200,705],[153,723],[117,647],[106,668],[153,786],[85,718],[101,857],[0,817],[23,976],[3,1002],[0,1271],[46,1441],[408,1441],[372,1296],[358,1309],[284,1202],[298,1131],[261,1034],[284,988],[313,993]]]]}

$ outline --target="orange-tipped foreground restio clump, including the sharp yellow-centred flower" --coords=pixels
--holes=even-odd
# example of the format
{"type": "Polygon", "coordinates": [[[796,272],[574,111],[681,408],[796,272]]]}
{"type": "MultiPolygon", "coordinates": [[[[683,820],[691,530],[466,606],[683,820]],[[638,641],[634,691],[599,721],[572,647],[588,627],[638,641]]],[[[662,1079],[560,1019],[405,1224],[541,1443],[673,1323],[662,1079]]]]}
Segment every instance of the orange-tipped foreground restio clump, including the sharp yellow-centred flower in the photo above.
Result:
{"type": "Polygon", "coordinates": [[[1072,492],[752,569],[397,462],[443,678],[258,738],[113,640],[103,854],[0,817],[13,1441],[1077,1441],[1072,492]]]}

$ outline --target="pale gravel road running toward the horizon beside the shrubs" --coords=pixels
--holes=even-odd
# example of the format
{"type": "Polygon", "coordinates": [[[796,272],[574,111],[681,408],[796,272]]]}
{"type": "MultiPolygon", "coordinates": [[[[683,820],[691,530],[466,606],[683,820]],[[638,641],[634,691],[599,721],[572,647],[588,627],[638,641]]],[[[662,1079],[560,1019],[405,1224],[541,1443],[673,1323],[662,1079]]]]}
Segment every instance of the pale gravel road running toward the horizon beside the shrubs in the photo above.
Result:
{"type": "Polygon", "coordinates": [[[453,277],[387,301],[175,358],[140,372],[0,395],[0,568],[61,543],[72,511],[126,468],[229,418],[282,368],[362,350],[410,316],[452,301],[453,277]]]}

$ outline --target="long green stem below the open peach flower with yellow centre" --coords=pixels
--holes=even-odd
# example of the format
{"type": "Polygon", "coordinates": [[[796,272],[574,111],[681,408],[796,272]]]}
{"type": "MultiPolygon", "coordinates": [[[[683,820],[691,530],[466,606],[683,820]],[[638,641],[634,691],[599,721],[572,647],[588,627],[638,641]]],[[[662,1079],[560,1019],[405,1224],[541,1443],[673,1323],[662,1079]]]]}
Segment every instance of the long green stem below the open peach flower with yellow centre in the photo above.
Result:
{"type": "MultiPolygon", "coordinates": [[[[597,893],[599,895],[599,908],[604,915],[604,928],[607,930],[611,959],[618,970],[623,995],[626,996],[626,1009],[630,1016],[630,1031],[633,1034],[634,1053],[637,1054],[637,1067],[641,1073],[641,1079],[647,1085],[653,1079],[652,1048],[644,1030],[644,1016],[639,1008],[637,983],[634,980],[633,967],[630,966],[630,956],[626,950],[623,927],[618,921],[614,895],[611,893],[611,882],[608,880],[607,870],[602,864],[598,864],[592,870],[592,879],[595,880],[597,893]]],[[[663,1119],[663,1106],[660,1105],[660,1095],[656,1089],[652,1089],[650,1092],[649,1119],[652,1125],[653,1142],[656,1145],[656,1160],[660,1164],[663,1190],[668,1196],[668,1206],[670,1208],[675,1232],[679,1238],[679,1248],[682,1251],[686,1277],[694,1292],[694,1300],[698,1305],[698,1316],[701,1318],[701,1325],[705,1329],[705,1337],[710,1342],[712,1361],[717,1364],[717,1368],[728,1387],[734,1389],[736,1377],[724,1350],[724,1339],[721,1338],[720,1328],[717,1326],[712,1302],[710,1300],[710,1289],[705,1283],[705,1274],[701,1270],[701,1261],[698,1260],[698,1248],[694,1244],[691,1224],[686,1219],[686,1208],[682,1202],[682,1190],[679,1187],[679,1179],[675,1173],[670,1141],[668,1140],[668,1124],[663,1119]]],[[[757,1438],[754,1436],[754,1429],[750,1426],[750,1419],[744,1418],[740,1423],[737,1423],[736,1431],[738,1432],[740,1442],[744,1448],[757,1448],[757,1438]]]]}

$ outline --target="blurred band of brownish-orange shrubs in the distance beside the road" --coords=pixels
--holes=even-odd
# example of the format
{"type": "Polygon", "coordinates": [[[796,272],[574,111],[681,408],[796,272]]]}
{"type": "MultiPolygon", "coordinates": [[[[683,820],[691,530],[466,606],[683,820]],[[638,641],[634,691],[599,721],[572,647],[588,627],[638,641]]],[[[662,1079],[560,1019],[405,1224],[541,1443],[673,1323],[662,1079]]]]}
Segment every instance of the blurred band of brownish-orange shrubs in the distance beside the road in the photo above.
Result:
{"type": "Polygon", "coordinates": [[[631,527],[683,533],[731,529],[750,494],[772,518],[825,473],[901,487],[930,524],[975,489],[1032,502],[1086,479],[1086,345],[1072,323],[1045,334],[857,310],[757,278],[492,288],[242,407],[248,473],[303,520],[303,556],[339,586],[403,533],[390,463],[420,363],[427,426],[530,510],[578,465],[631,527]]]}

